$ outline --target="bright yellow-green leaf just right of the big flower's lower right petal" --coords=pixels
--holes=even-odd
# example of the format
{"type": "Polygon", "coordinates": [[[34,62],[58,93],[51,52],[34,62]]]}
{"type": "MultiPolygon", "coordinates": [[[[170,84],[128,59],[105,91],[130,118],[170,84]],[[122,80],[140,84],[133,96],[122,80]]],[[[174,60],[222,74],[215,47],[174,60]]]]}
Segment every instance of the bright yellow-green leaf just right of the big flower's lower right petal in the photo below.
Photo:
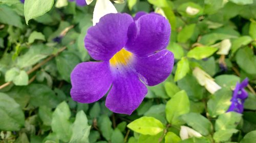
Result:
{"type": "Polygon", "coordinates": [[[178,63],[177,63],[177,69],[175,72],[174,76],[174,81],[178,81],[182,79],[183,77],[186,76],[186,74],[190,71],[189,69],[189,62],[187,58],[182,58],[178,63]]]}

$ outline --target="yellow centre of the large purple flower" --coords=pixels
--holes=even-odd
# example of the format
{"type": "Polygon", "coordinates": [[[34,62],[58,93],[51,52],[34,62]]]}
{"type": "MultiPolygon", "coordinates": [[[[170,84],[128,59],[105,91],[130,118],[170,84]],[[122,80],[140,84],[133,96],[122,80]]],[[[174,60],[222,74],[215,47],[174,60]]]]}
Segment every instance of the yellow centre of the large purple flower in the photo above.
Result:
{"type": "Polygon", "coordinates": [[[110,64],[112,66],[127,65],[129,60],[131,59],[131,56],[131,52],[126,51],[124,48],[122,48],[110,59],[110,64]]]}

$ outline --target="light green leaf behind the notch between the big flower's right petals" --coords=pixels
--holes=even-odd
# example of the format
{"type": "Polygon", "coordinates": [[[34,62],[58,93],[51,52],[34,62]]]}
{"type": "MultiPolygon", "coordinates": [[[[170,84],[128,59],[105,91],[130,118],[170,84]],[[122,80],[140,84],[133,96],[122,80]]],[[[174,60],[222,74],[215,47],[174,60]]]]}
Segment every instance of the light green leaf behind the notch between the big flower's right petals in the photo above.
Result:
{"type": "Polygon", "coordinates": [[[170,42],[169,45],[167,46],[167,49],[174,53],[175,59],[181,59],[184,56],[184,50],[182,46],[175,42],[170,42]]]}

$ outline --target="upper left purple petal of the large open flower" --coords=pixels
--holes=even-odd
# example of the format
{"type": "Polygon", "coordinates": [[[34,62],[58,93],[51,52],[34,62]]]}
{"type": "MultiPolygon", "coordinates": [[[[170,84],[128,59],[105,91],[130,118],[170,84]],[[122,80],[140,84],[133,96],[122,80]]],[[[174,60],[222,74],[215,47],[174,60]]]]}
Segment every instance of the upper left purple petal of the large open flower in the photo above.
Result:
{"type": "Polygon", "coordinates": [[[111,13],[89,28],[84,42],[92,58],[99,61],[110,60],[124,47],[127,30],[132,22],[133,18],[128,14],[111,13]]]}

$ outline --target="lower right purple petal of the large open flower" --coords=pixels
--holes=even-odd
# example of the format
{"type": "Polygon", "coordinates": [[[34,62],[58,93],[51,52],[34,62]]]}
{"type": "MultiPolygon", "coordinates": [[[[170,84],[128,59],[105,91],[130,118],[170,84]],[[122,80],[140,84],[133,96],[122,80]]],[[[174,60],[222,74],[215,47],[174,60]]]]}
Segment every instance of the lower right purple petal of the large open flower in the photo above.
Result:
{"type": "Polygon", "coordinates": [[[134,58],[134,68],[141,80],[150,86],[163,82],[172,72],[174,54],[168,50],[161,50],[150,56],[134,58]]]}

